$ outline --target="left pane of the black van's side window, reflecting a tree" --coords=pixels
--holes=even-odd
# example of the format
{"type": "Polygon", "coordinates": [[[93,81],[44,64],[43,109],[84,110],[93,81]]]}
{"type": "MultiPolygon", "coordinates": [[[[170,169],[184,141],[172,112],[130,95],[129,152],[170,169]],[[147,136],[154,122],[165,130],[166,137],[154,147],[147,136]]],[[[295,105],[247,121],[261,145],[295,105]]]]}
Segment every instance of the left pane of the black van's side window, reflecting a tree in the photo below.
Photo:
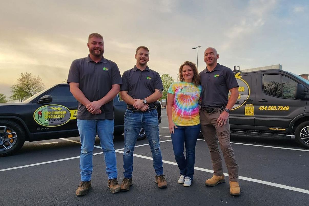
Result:
{"type": "Polygon", "coordinates": [[[281,75],[270,74],[263,76],[263,90],[265,94],[282,97],[281,75]]]}

